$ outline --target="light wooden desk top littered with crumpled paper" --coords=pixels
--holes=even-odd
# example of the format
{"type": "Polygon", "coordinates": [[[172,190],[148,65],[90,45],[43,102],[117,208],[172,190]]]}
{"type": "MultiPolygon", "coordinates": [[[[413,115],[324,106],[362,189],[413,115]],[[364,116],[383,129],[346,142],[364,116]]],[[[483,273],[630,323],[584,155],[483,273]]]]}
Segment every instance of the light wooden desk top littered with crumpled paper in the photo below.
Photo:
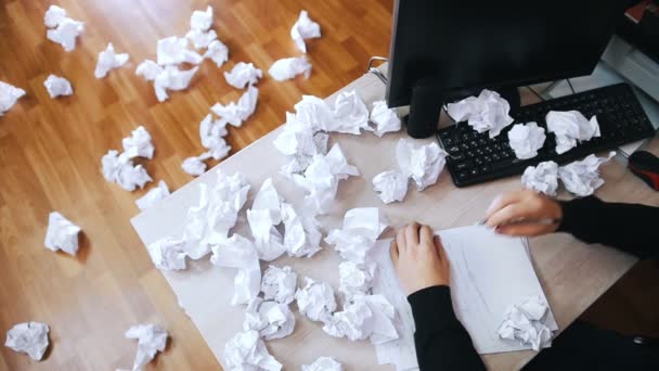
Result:
{"type": "MultiPolygon", "coordinates": [[[[373,101],[383,99],[385,91],[384,85],[373,75],[365,75],[345,88],[351,89],[356,89],[369,106],[373,101]]],[[[331,104],[335,95],[327,99],[331,104]]],[[[522,94],[522,101],[532,102],[532,95],[522,94]]],[[[229,175],[236,171],[245,175],[251,184],[247,207],[268,177],[273,178],[275,187],[288,202],[299,206],[303,192],[279,174],[285,158],[272,145],[272,141],[280,130],[281,128],[272,131],[181,188],[157,206],[134,217],[132,225],[142,241],[148,244],[166,235],[180,236],[188,208],[198,202],[198,184],[215,184],[217,169],[229,175]]],[[[373,192],[371,181],[378,172],[397,167],[395,146],[398,139],[404,136],[393,133],[382,139],[372,133],[331,136],[331,143],[340,143],[348,162],[360,169],[361,177],[352,177],[339,183],[335,210],[320,219],[325,231],[338,227],[347,209],[360,206],[380,207],[395,228],[413,219],[430,225],[434,229],[473,225],[496,194],[520,187],[519,177],[512,177],[457,189],[444,171],[438,183],[423,193],[410,187],[403,203],[384,205],[373,192]]],[[[427,141],[429,140],[432,139],[427,141]]],[[[659,149],[659,141],[655,139],[652,146],[659,149]]],[[[626,171],[624,159],[618,157],[620,156],[603,167],[606,184],[597,191],[597,195],[607,201],[659,206],[657,194],[626,171]]],[[[235,231],[250,235],[244,213],[241,214],[235,231]]],[[[392,229],[389,229],[384,236],[392,234],[392,229]]],[[[569,325],[636,261],[632,256],[607,247],[586,246],[565,234],[532,239],[530,244],[538,277],[560,329],[569,325]]],[[[290,265],[300,277],[310,276],[327,281],[337,289],[338,263],[336,252],[325,248],[311,259],[283,257],[274,265],[290,265]]],[[[163,273],[212,353],[221,360],[224,344],[242,330],[243,323],[244,307],[232,307],[229,304],[235,272],[212,267],[208,258],[205,258],[191,263],[185,271],[163,273]]],[[[297,370],[300,364],[310,363],[319,356],[336,357],[348,370],[391,369],[388,366],[377,366],[375,348],[369,342],[353,343],[331,337],[322,332],[320,323],[302,318],[297,309],[294,311],[297,318],[294,334],[267,343],[284,369],[297,370]]],[[[533,356],[533,351],[518,351],[487,355],[483,358],[492,370],[512,370],[521,368],[533,356]]]]}

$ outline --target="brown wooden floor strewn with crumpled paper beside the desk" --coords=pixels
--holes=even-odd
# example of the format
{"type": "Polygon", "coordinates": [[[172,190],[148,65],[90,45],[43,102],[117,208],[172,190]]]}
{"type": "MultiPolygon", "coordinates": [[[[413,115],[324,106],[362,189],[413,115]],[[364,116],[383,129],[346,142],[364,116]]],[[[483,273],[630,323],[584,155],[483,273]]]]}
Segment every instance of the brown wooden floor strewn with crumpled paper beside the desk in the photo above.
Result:
{"type": "MultiPolygon", "coordinates": [[[[301,9],[321,24],[323,37],[308,42],[311,78],[261,80],[256,114],[230,128],[235,152],[279,126],[302,94],[325,97],[359,77],[371,55],[387,55],[392,0],[59,1],[86,23],[70,53],[46,39],[42,17],[52,1],[1,3],[0,80],[27,97],[0,117],[0,333],[17,322],[42,321],[51,327],[52,346],[42,362],[0,347],[0,370],[127,368],[135,343],[124,338],[125,330],[152,321],[172,340],[147,369],[219,369],[130,226],[138,213],[133,202],[144,191],[107,183],[101,157],[143,125],[156,146],[154,159],[143,164],[154,180],[176,190],[192,179],[181,170],[182,159],[203,150],[199,120],[214,103],[240,97],[223,71],[240,61],[267,71],[273,61],[297,55],[288,33],[301,9]],[[157,39],[184,35],[191,11],[207,3],[230,62],[221,69],[204,62],[188,91],[158,103],[134,67],[155,59],[157,39]],[[98,80],[96,54],[108,41],[131,60],[98,80]],[[75,94],[51,100],[42,86],[49,74],[68,78],[75,94]],[[76,258],[43,247],[51,210],[82,228],[76,258]]],[[[628,291],[618,290],[624,294],[615,295],[615,303],[629,299],[628,291]]],[[[645,318],[656,329],[657,317],[645,318]]],[[[644,323],[637,324],[647,329],[644,323]]]]}

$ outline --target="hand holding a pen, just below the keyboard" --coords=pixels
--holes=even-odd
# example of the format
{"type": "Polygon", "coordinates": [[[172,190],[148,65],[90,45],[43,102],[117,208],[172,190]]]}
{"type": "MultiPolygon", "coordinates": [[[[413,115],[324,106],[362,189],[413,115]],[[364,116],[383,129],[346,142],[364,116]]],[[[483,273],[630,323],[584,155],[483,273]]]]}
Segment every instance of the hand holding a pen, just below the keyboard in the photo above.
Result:
{"type": "Polygon", "coordinates": [[[558,202],[531,190],[512,191],[492,201],[486,225],[508,235],[535,236],[555,232],[563,218],[558,202]]]}

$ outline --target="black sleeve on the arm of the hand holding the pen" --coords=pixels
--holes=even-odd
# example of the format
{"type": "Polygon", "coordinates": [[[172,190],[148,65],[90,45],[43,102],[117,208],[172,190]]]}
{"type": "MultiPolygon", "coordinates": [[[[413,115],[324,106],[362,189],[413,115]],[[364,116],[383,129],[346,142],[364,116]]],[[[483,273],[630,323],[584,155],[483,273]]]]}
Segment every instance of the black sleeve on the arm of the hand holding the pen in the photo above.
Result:
{"type": "Polygon", "coordinates": [[[609,245],[641,258],[659,252],[659,207],[607,203],[595,196],[560,202],[559,232],[609,245]]]}

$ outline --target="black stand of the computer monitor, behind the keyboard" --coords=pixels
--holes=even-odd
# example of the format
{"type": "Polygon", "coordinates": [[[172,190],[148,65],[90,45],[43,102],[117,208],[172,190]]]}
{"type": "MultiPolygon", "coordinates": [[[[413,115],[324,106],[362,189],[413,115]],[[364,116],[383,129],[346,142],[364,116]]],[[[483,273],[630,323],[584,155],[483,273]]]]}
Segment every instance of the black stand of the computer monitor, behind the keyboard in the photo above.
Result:
{"type": "MultiPolygon", "coordinates": [[[[460,89],[447,91],[438,88],[434,78],[424,78],[412,89],[410,115],[404,119],[408,135],[423,139],[435,135],[439,123],[441,107],[447,103],[457,102],[470,95],[478,95],[482,89],[460,89]]],[[[511,104],[511,115],[515,116],[520,106],[519,89],[517,87],[501,87],[492,89],[511,104]]]]}

